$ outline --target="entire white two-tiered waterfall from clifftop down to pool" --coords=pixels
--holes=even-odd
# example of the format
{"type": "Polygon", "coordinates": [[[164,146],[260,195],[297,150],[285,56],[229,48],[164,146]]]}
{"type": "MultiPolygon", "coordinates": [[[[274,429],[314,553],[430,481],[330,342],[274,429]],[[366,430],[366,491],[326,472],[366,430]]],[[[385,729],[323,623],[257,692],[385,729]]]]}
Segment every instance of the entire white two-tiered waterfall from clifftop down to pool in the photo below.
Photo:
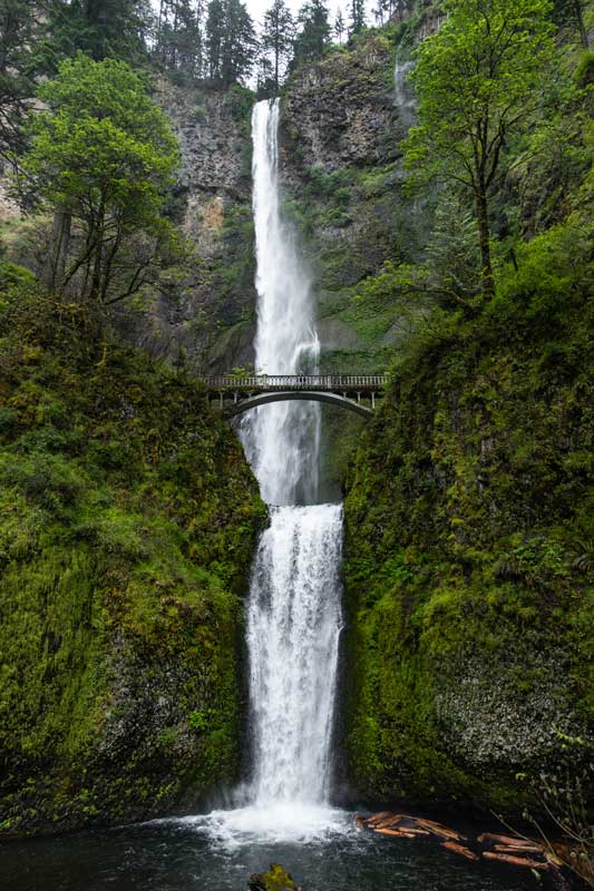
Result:
{"type": "MultiPolygon", "coordinates": [[[[315,372],[310,280],[279,192],[279,101],[253,111],[256,370],[315,372]]],[[[342,508],[320,505],[320,405],[280,402],[246,415],[242,439],[271,506],[247,608],[252,804],[327,801],[341,626],[342,508]]]]}

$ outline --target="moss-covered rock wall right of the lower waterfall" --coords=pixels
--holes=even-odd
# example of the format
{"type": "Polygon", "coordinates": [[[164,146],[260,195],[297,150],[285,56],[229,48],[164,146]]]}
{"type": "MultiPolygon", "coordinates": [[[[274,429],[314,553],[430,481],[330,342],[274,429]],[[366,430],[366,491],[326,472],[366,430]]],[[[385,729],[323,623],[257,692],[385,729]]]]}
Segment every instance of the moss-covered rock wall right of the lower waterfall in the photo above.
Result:
{"type": "Polygon", "coordinates": [[[370,797],[546,796],[567,814],[587,789],[591,314],[587,286],[508,293],[417,341],[366,431],[345,500],[347,748],[370,797]]]}

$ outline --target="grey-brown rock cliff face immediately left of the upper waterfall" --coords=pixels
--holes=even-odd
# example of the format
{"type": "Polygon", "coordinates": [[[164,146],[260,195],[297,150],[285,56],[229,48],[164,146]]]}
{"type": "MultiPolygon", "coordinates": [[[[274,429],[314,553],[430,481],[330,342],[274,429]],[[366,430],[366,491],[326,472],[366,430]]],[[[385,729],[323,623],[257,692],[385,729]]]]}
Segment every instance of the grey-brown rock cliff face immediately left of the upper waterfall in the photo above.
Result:
{"type": "Polygon", "coordinates": [[[120,330],[158,358],[201,373],[253,361],[255,288],[250,120],[254,95],[157,82],[157,99],[179,140],[181,167],[169,213],[191,252],[144,314],[125,312],[120,330]]]}

